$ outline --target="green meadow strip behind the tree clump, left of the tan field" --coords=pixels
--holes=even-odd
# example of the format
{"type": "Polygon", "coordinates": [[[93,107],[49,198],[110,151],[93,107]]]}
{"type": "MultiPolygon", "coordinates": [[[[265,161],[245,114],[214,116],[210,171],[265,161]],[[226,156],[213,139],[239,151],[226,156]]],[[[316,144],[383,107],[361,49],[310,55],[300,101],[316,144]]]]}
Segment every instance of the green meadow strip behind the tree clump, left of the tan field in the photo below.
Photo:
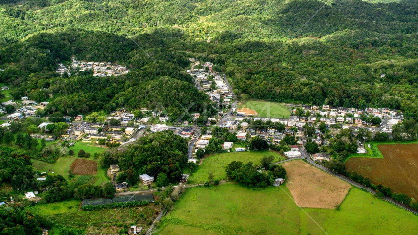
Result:
{"type": "Polygon", "coordinates": [[[260,159],[263,156],[274,156],[274,161],[284,160],[283,156],[273,151],[247,151],[247,152],[232,152],[232,153],[217,153],[206,157],[203,163],[197,168],[197,171],[192,173],[188,184],[204,183],[208,179],[209,172],[215,176],[214,179],[226,179],[225,168],[232,161],[239,161],[243,164],[253,162],[253,165],[259,165],[260,159]]]}

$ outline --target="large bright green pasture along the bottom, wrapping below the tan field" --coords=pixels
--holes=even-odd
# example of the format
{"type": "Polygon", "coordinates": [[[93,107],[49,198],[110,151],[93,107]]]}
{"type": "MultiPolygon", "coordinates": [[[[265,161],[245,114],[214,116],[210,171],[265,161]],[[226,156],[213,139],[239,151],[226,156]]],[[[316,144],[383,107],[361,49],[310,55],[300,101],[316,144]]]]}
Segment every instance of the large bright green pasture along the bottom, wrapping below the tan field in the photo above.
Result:
{"type": "Polygon", "coordinates": [[[418,216],[352,188],[337,209],[304,210],[285,185],[246,188],[227,183],[187,188],[163,217],[160,235],[181,234],[415,234],[418,216]],[[287,193],[287,194],[286,194],[287,193]]]}

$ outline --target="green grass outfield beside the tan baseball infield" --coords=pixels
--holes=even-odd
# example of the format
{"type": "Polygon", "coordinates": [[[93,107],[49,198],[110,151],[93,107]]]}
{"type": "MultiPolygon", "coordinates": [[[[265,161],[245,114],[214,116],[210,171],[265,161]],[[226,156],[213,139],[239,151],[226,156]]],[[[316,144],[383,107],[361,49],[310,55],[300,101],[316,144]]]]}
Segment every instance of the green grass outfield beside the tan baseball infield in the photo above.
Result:
{"type": "Polygon", "coordinates": [[[264,118],[289,118],[290,110],[283,103],[249,100],[239,104],[238,108],[253,109],[259,117],[264,118]]]}

